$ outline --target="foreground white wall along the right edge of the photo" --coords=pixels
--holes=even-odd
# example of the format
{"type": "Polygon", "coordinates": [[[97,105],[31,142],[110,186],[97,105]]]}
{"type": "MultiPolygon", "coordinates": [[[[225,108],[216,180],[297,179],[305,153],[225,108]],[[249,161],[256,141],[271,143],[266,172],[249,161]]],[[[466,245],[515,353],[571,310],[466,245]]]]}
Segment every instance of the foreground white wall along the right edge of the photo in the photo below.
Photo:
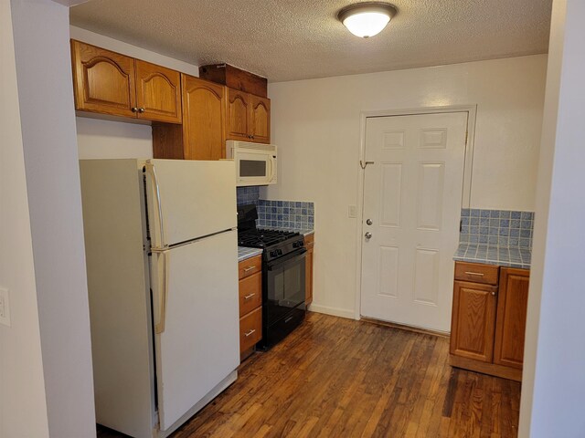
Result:
{"type": "Polygon", "coordinates": [[[519,436],[585,436],[585,3],[553,2],[519,436]]]}

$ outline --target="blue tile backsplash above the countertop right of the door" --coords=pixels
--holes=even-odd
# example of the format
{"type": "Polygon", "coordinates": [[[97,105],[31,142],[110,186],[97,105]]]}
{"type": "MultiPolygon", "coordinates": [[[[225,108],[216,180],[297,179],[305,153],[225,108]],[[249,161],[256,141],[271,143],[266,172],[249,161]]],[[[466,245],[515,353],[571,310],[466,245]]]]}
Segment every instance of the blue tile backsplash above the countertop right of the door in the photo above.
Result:
{"type": "Polygon", "coordinates": [[[532,247],[533,212],[463,208],[461,219],[461,243],[532,247]]]}

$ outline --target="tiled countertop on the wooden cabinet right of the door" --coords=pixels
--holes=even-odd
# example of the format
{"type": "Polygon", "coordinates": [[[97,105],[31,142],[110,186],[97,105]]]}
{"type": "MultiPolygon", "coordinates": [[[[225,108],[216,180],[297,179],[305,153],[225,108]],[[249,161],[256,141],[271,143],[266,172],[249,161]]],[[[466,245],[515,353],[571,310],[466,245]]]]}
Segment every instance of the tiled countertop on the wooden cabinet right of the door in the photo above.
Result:
{"type": "Polygon", "coordinates": [[[459,244],[453,260],[530,269],[532,251],[518,246],[459,244]]]}

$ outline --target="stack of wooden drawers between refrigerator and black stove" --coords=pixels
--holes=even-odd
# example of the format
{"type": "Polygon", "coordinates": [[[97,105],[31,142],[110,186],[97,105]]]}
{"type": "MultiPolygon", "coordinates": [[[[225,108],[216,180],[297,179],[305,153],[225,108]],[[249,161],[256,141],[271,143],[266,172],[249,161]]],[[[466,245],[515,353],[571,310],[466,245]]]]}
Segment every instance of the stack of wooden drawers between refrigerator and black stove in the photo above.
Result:
{"type": "Polygon", "coordinates": [[[246,359],[262,339],[261,255],[239,262],[239,357],[246,359]]]}

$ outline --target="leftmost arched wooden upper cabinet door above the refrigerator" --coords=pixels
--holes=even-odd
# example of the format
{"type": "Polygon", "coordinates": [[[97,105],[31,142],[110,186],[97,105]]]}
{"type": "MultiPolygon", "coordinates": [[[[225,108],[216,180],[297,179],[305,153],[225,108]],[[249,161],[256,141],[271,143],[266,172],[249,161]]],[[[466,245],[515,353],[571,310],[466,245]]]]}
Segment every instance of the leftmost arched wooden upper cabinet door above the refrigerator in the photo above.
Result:
{"type": "Polygon", "coordinates": [[[71,41],[77,110],[136,117],[134,59],[71,41]]]}

